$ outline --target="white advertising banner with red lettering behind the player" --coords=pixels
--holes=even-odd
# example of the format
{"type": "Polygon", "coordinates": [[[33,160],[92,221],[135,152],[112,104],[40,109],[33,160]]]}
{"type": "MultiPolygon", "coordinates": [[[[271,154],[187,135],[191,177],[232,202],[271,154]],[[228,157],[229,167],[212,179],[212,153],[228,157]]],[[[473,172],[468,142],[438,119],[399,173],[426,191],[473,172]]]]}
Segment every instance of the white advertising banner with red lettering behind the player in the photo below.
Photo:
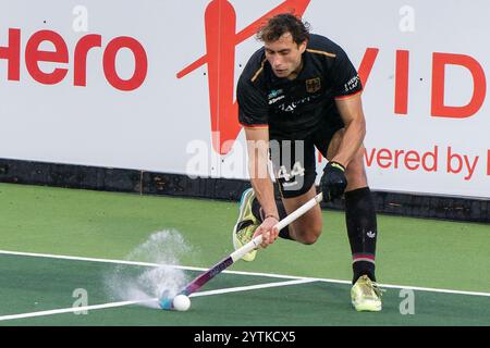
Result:
{"type": "Polygon", "coordinates": [[[0,0],[0,158],[246,178],[236,80],[291,10],[359,71],[372,189],[490,197],[487,0],[0,0]]]}

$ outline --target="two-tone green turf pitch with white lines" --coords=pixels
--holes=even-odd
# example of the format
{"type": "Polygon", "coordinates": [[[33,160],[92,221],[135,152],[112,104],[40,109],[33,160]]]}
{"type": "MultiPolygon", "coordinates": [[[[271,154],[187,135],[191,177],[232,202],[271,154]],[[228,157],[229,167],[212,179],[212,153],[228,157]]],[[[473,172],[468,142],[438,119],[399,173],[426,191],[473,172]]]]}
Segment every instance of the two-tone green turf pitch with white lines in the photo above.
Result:
{"type": "Polygon", "coordinates": [[[490,325],[485,224],[379,215],[383,311],[357,313],[344,216],[326,211],[317,244],[279,240],[218,275],[180,313],[121,303],[108,294],[108,274],[155,269],[118,260],[151,261],[135,248],[173,229],[192,278],[232,251],[236,203],[0,184],[0,325],[490,325]],[[402,314],[401,291],[414,287],[414,314],[402,314]],[[76,289],[87,294],[88,314],[74,313],[76,289]]]}

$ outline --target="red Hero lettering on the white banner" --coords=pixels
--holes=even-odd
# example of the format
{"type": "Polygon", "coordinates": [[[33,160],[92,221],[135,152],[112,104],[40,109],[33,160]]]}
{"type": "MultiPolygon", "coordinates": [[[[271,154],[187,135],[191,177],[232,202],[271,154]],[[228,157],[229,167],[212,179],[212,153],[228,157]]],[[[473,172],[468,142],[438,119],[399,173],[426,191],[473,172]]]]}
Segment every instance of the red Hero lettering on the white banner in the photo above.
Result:
{"type": "MultiPolygon", "coordinates": [[[[90,49],[102,47],[102,37],[90,34],[82,37],[75,46],[73,59],[73,85],[86,86],[87,79],[87,53],[90,49]]],[[[21,29],[9,29],[9,45],[0,47],[0,59],[8,61],[8,79],[21,79],[21,29]]],[[[56,85],[64,79],[68,74],[65,67],[54,67],[50,73],[44,72],[39,63],[69,63],[69,49],[64,39],[56,32],[39,30],[34,33],[25,46],[25,65],[29,75],[40,84],[56,85]],[[54,50],[40,50],[42,42],[49,42],[54,50]]],[[[103,50],[102,58],[103,74],[108,83],[120,90],[134,90],[145,82],[148,59],[143,48],[136,39],[132,37],[120,36],[112,39],[103,50]],[[115,69],[117,55],[121,49],[128,49],[135,58],[135,67],[133,76],[123,79],[118,75],[115,69]]]]}

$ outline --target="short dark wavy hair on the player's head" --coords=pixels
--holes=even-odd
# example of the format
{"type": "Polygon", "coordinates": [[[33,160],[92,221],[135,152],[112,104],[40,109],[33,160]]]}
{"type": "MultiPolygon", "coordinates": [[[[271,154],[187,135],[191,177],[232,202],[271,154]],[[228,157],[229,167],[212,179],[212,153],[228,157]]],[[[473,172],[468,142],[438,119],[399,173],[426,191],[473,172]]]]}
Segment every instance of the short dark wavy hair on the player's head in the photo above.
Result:
{"type": "Polygon", "coordinates": [[[309,39],[309,24],[292,13],[281,13],[267,21],[257,33],[257,39],[264,42],[278,40],[285,33],[291,33],[297,45],[309,39]]]}

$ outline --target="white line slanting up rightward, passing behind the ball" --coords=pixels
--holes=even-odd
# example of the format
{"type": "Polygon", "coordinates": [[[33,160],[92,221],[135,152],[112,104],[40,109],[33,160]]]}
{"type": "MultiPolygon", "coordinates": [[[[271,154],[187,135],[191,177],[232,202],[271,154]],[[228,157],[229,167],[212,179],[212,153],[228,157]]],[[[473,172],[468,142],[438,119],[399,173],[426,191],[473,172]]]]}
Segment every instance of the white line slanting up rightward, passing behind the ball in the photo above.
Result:
{"type": "MultiPolygon", "coordinates": [[[[237,293],[237,291],[249,291],[249,290],[257,290],[257,289],[265,289],[265,288],[280,287],[280,286],[290,286],[290,285],[305,284],[305,283],[313,283],[313,282],[316,282],[316,281],[314,281],[314,279],[296,279],[296,281],[275,282],[275,283],[259,284],[259,285],[237,286],[237,287],[230,287],[230,288],[223,288],[223,289],[217,289],[217,290],[194,293],[194,294],[191,294],[189,297],[212,296],[212,295],[230,294],[230,293],[237,293]]],[[[144,303],[151,303],[154,308],[158,308],[157,302],[158,302],[158,298],[148,298],[148,299],[144,299],[144,300],[120,301],[120,302],[110,302],[110,303],[103,303],[103,304],[61,308],[61,309],[53,309],[53,310],[47,310],[47,311],[1,315],[0,321],[26,319],[26,318],[35,318],[35,316],[47,316],[47,315],[54,315],[54,314],[65,314],[65,313],[72,313],[72,312],[94,311],[94,310],[98,310],[98,309],[124,307],[124,306],[131,306],[131,304],[144,304],[144,303]]]]}

